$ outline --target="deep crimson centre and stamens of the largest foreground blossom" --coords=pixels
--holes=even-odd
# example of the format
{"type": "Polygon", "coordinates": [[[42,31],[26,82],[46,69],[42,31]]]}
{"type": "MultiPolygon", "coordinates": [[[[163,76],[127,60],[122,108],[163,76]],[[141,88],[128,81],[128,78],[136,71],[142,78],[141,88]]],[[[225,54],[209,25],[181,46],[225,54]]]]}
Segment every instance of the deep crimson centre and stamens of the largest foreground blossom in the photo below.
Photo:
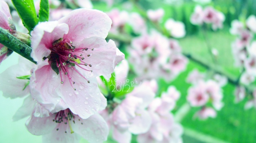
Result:
{"type": "MultiPolygon", "coordinates": [[[[61,72],[63,72],[68,80],[70,85],[73,87],[73,84],[75,82],[71,78],[70,71],[74,70],[76,73],[78,73],[81,77],[83,77],[88,83],[90,83],[89,80],[87,80],[79,71],[74,67],[75,65],[79,68],[82,68],[86,71],[92,72],[92,70],[83,68],[81,65],[89,65],[92,67],[91,64],[88,64],[84,62],[83,60],[85,57],[89,57],[90,55],[86,54],[85,51],[87,51],[89,48],[75,48],[74,46],[71,45],[72,42],[70,39],[58,39],[53,42],[53,47],[49,48],[51,50],[51,54],[49,57],[49,63],[51,64],[51,67],[53,70],[57,73],[60,74],[61,77],[61,83],[63,84],[63,77],[61,72]],[[84,56],[85,57],[84,57],[84,56]]],[[[94,49],[90,49],[94,50],[94,49]]],[[[88,67],[88,68],[90,68],[88,67]]],[[[76,90],[74,88],[74,90],[76,90]]]]}

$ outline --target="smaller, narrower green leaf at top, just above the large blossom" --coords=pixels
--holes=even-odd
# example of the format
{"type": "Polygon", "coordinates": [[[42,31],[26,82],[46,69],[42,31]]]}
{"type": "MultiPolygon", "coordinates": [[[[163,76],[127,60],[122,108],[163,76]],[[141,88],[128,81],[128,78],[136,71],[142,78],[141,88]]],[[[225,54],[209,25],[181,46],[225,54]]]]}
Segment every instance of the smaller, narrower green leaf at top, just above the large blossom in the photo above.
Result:
{"type": "Polygon", "coordinates": [[[39,22],[48,21],[49,20],[49,1],[41,0],[40,1],[40,9],[39,9],[39,22]]]}

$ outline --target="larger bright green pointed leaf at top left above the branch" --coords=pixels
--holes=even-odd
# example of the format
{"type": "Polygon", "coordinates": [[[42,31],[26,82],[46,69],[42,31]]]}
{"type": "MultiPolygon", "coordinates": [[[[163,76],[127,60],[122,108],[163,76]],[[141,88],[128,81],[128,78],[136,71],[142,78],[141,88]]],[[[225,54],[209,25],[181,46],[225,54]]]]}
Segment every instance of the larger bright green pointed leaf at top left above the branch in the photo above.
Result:
{"type": "Polygon", "coordinates": [[[24,26],[29,32],[38,23],[36,9],[33,0],[11,0],[18,14],[20,15],[24,26]]]}

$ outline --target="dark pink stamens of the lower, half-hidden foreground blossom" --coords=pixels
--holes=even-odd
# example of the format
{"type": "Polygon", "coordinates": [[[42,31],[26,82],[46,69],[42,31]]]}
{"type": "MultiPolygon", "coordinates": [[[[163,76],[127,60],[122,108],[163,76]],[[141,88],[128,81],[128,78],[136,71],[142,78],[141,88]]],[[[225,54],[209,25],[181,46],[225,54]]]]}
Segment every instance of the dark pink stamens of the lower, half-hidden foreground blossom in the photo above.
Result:
{"type": "MultiPolygon", "coordinates": [[[[64,124],[69,124],[69,128],[71,133],[74,133],[72,128],[71,128],[71,123],[70,121],[73,120],[73,124],[75,124],[75,118],[78,118],[78,121],[81,121],[81,118],[79,116],[76,116],[75,114],[73,114],[71,112],[71,110],[69,108],[65,109],[65,110],[61,110],[59,112],[56,113],[55,118],[53,119],[53,122],[56,123],[62,123],[64,122],[64,124]]],[[[83,123],[81,122],[81,124],[83,125],[83,123]]],[[[68,126],[67,126],[68,127],[68,126]]],[[[59,130],[59,128],[56,129],[57,131],[59,130]]],[[[67,133],[67,131],[65,131],[65,133],[67,133]]]]}

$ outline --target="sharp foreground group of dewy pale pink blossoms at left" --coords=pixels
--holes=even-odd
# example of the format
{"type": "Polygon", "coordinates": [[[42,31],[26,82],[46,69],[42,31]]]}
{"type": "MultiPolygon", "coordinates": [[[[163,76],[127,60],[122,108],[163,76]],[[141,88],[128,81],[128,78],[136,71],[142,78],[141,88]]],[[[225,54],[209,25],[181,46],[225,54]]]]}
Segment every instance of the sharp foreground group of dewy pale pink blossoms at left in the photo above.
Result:
{"type": "MultiPolygon", "coordinates": [[[[8,5],[0,2],[1,27],[15,33],[8,5]]],[[[79,142],[81,136],[90,142],[106,140],[108,127],[98,111],[107,103],[96,77],[111,76],[124,59],[114,41],[105,41],[110,27],[105,13],[90,9],[40,22],[31,32],[31,57],[37,64],[21,57],[0,74],[3,96],[26,96],[13,119],[30,116],[26,127],[43,135],[43,142],[79,142]]]]}

